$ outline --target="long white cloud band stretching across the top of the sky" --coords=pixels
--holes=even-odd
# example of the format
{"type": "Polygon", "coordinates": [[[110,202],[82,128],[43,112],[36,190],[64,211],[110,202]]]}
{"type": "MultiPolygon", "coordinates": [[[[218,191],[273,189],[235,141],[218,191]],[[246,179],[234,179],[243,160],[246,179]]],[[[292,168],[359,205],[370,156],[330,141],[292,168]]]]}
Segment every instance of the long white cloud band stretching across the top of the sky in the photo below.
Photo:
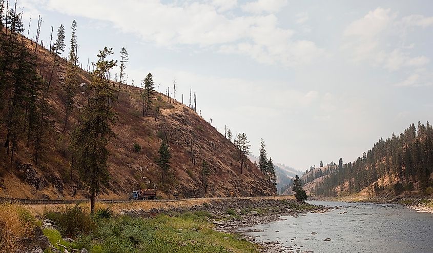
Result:
{"type": "Polygon", "coordinates": [[[26,1],[68,15],[110,22],[114,28],[160,47],[217,49],[222,53],[245,55],[260,63],[284,66],[307,64],[325,55],[314,42],[296,40],[293,30],[280,28],[274,14],[261,14],[279,10],[286,4],[285,0],[259,0],[245,4],[241,8],[255,14],[240,16],[221,13],[235,8],[237,1],[234,0],[180,4],[163,4],[157,0],[125,0],[121,4],[115,0],[26,1]]]}

